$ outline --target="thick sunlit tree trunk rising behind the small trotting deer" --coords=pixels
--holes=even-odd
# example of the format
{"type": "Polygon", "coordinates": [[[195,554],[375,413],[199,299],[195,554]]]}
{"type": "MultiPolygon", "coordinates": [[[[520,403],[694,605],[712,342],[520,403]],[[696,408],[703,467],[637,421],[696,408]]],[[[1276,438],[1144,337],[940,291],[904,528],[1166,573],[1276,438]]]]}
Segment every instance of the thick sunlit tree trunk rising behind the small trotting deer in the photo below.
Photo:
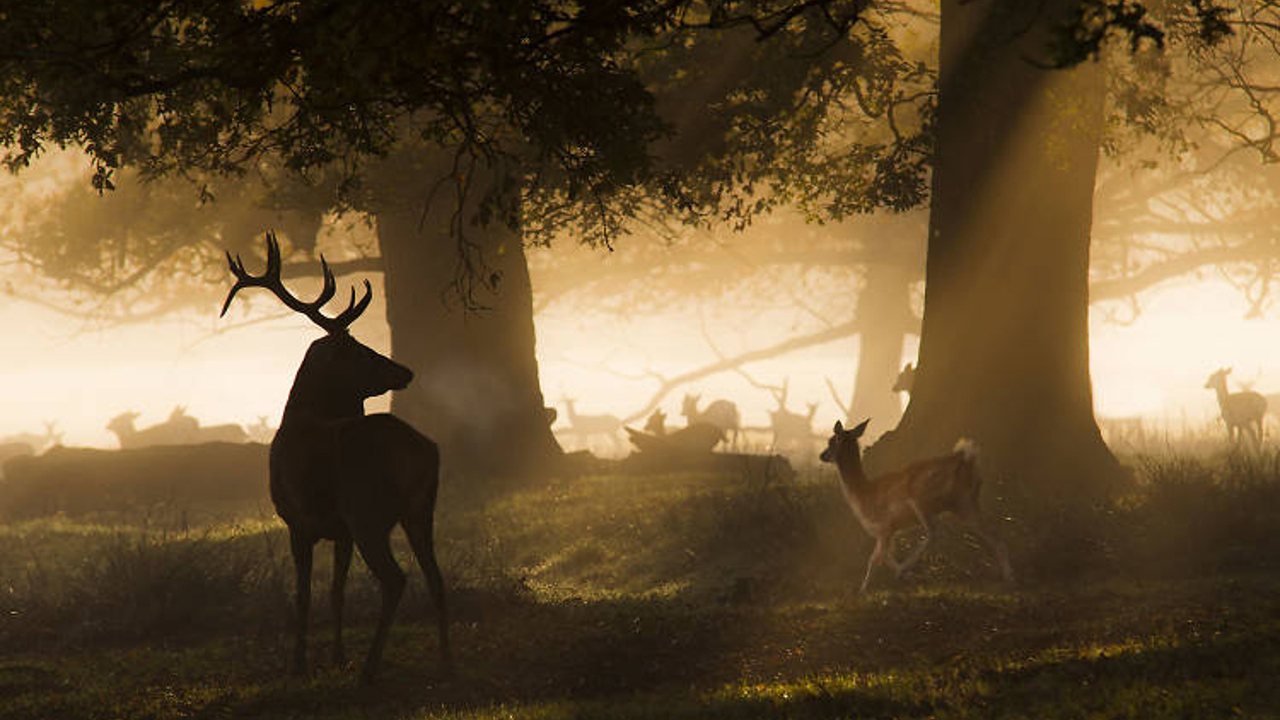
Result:
{"type": "Polygon", "coordinates": [[[1070,5],[942,3],[919,369],[902,421],[868,455],[876,471],[970,437],[986,468],[1028,488],[1075,495],[1120,477],[1089,380],[1100,69],[1027,60],[1046,58],[1070,5]]]}

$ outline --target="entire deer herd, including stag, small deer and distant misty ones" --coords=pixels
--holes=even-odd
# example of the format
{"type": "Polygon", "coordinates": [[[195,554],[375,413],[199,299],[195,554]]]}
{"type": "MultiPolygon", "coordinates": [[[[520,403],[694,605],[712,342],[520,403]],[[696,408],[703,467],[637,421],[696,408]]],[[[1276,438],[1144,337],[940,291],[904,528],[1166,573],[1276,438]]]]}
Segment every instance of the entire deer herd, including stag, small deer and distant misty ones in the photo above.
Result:
{"type": "MultiPolygon", "coordinates": [[[[320,541],[329,541],[334,547],[330,588],[333,660],[343,664],[346,657],[343,596],[352,555],[358,551],[381,593],[381,610],[361,669],[362,682],[375,678],[407,582],[392,552],[390,533],[397,525],[404,532],[436,607],[439,662],[448,671],[452,656],[445,587],[435,559],[433,532],[440,451],[431,439],[399,418],[387,413],[366,415],[364,411],[366,398],[403,389],[413,379],[412,370],[365,346],[348,331],[369,307],[372,297],[369,281],[365,281],[358,300],[353,288],[346,309],[329,316],[321,307],[333,299],[337,282],[323,256],[323,287],[312,301],[298,300],[284,287],[280,247],[273,233],[266,236],[266,266],[261,274],[246,270],[239,256],[228,254],[227,260],[234,284],[223,302],[223,314],[241,290],[262,288],[324,332],[302,357],[279,428],[273,432],[265,418],[259,418],[248,432],[239,425],[202,427],[182,406],[156,425],[136,428],[138,414],[131,411],[113,418],[108,428],[116,434],[122,448],[244,442],[251,438],[270,442],[269,491],[288,529],[294,566],[291,664],[294,673],[305,673],[307,667],[314,548],[320,541]]],[[[1258,445],[1263,438],[1263,415],[1271,404],[1257,392],[1230,392],[1226,387],[1230,372],[1230,368],[1215,372],[1204,387],[1216,393],[1231,441],[1258,445]]],[[[914,365],[908,364],[892,389],[910,392],[914,375],[914,365]]],[[[818,437],[813,430],[817,404],[809,404],[805,414],[788,410],[787,383],[773,389],[773,396],[777,406],[769,411],[769,427],[765,428],[772,433],[773,447],[806,452],[818,437]]],[[[667,428],[667,415],[660,409],[648,416],[641,432],[626,427],[614,415],[581,414],[571,397],[563,397],[559,405],[564,414],[548,407],[547,421],[550,425],[563,419],[567,429],[562,433],[580,447],[605,443],[611,450],[621,450],[621,432],[626,430],[640,450],[648,442],[664,447],[687,445],[708,451],[719,443],[736,447],[746,429],[733,402],[714,400],[703,405],[699,395],[684,397],[680,414],[685,427],[675,430],[667,428]]],[[[864,471],[860,447],[867,424],[868,420],[863,420],[846,429],[842,421],[836,421],[826,448],[818,454],[818,460],[835,465],[849,509],[874,541],[859,591],[867,591],[873,571],[881,565],[887,565],[897,577],[910,570],[929,546],[937,518],[945,512],[959,518],[987,546],[1001,577],[1012,582],[1009,552],[979,507],[982,477],[978,447],[960,438],[951,452],[870,478],[864,471]],[[923,534],[923,541],[909,556],[899,560],[893,538],[911,528],[923,534]]],[[[52,423],[46,423],[41,436],[0,438],[0,461],[12,455],[38,454],[59,441],[60,433],[55,432],[52,423]]]]}

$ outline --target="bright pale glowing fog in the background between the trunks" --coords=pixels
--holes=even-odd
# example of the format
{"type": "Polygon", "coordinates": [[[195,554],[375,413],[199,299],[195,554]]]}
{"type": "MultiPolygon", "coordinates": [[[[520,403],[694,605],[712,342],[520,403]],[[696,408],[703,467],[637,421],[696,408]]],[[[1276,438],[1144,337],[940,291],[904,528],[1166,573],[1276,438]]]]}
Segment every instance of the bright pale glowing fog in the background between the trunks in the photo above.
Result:
{"type": "MultiPolygon", "coordinates": [[[[380,295],[380,288],[375,293],[380,295]]],[[[771,336],[791,332],[782,316],[762,322],[756,314],[735,313],[723,301],[707,305],[735,327],[750,328],[717,333],[724,342],[718,348],[722,352],[732,350],[732,342],[764,345],[771,336]]],[[[255,314],[274,313],[259,302],[220,320],[214,302],[205,318],[104,325],[8,299],[0,307],[8,338],[0,436],[40,432],[44,421],[54,420],[67,445],[115,447],[114,436],[105,429],[111,416],[134,410],[141,413],[138,425],[145,427],[163,421],[177,405],[204,424],[248,425],[266,416],[274,427],[306,345],[319,336],[300,316],[241,327],[255,314]]],[[[1100,415],[1143,415],[1198,428],[1217,414],[1212,392],[1202,387],[1204,378],[1226,365],[1235,368],[1233,387],[1243,380],[1261,392],[1280,391],[1275,311],[1247,319],[1239,292],[1221,281],[1167,282],[1142,296],[1142,313],[1129,324],[1105,315],[1105,306],[1093,307],[1089,328],[1100,415]]],[[[646,372],[675,375],[717,357],[703,337],[699,318],[690,314],[620,319],[553,304],[536,318],[536,328],[547,404],[573,397],[579,413],[630,415],[644,407],[657,387],[644,377],[646,372]]],[[[353,332],[385,351],[381,306],[371,309],[353,332]]],[[[847,338],[745,368],[760,383],[778,384],[788,378],[788,406],[803,411],[806,402],[818,402],[814,424],[822,428],[841,415],[826,379],[847,398],[856,350],[858,340],[847,338]]],[[[914,338],[904,363],[913,359],[914,338]]],[[[704,398],[732,398],[745,425],[767,425],[768,411],[776,406],[767,391],[735,373],[681,389],[704,398]]],[[[660,405],[672,424],[682,423],[680,395],[680,389],[669,393],[660,405]]],[[[387,398],[367,405],[370,410],[385,406],[387,398]]]]}

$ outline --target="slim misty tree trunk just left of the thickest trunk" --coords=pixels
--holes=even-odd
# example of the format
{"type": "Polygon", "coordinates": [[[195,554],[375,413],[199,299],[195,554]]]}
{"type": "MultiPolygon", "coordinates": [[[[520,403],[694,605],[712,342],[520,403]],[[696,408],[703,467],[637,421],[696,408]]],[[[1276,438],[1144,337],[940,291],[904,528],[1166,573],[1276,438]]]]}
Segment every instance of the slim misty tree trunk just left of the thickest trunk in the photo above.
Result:
{"type": "Polygon", "coordinates": [[[892,428],[902,415],[901,397],[892,387],[902,370],[902,342],[908,333],[919,332],[911,314],[915,277],[896,263],[873,264],[858,297],[858,374],[849,407],[858,421],[870,418],[868,437],[892,428]]]}

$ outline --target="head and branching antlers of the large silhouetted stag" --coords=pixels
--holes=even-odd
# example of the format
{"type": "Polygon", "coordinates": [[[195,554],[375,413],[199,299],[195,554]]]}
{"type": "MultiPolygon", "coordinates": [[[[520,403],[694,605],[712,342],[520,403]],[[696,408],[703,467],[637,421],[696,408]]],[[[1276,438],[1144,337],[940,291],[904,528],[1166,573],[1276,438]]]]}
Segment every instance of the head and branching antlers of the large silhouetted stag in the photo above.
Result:
{"type": "Polygon", "coordinates": [[[325,336],[307,348],[293,380],[291,401],[298,398],[312,404],[349,406],[384,392],[403,389],[413,379],[412,370],[361,343],[347,332],[351,323],[356,322],[372,300],[374,291],[369,281],[365,281],[365,293],[358,301],[352,288],[347,309],[330,318],[321,313],[320,307],[333,297],[338,283],[323,255],[320,270],[324,275],[324,287],[320,290],[320,296],[311,302],[294,297],[280,281],[280,245],[274,233],[266,233],[266,270],[261,275],[248,274],[239,256],[232,258],[230,252],[227,254],[227,263],[236,275],[236,284],[227,293],[221,314],[227,314],[232,299],[241,288],[261,287],[270,290],[287,307],[305,315],[325,331],[325,336]]]}

